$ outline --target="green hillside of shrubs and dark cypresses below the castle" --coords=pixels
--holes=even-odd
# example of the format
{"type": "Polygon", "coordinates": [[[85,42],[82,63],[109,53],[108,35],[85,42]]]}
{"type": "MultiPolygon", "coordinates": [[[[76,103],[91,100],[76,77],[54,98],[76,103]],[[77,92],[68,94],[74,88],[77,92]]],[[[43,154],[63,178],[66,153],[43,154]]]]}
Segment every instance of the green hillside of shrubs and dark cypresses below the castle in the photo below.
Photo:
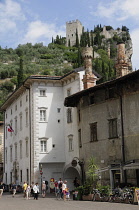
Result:
{"type": "MultiPolygon", "coordinates": [[[[107,26],[107,30],[111,29],[111,26],[107,26]]],[[[93,46],[94,51],[100,55],[99,58],[93,59],[93,69],[102,75],[99,82],[115,78],[116,43],[129,40],[129,30],[123,26],[124,34],[121,37],[115,34],[111,39],[105,39],[101,31],[101,25],[97,25],[90,32],[89,30],[85,32],[83,29],[79,43],[76,30],[76,44],[73,47],[70,46],[70,42],[66,47],[66,38],[59,35],[55,39],[52,37],[52,42],[48,46],[44,46],[43,43],[34,45],[27,43],[18,45],[16,49],[0,47],[0,106],[30,75],[62,76],[82,66],[81,51],[87,45],[93,46]],[[110,58],[107,53],[109,43],[110,58]]],[[[2,119],[1,113],[0,120],[2,119]]]]}

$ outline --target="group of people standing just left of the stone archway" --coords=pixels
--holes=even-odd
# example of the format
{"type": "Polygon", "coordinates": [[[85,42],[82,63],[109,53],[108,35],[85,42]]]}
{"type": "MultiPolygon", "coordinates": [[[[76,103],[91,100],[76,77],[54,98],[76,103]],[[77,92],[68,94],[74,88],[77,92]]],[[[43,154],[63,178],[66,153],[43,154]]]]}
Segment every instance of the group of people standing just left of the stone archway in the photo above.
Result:
{"type": "Polygon", "coordinates": [[[55,181],[55,195],[58,199],[69,200],[70,199],[70,192],[69,188],[67,188],[67,181],[64,182],[60,178],[59,181],[55,181]]]}

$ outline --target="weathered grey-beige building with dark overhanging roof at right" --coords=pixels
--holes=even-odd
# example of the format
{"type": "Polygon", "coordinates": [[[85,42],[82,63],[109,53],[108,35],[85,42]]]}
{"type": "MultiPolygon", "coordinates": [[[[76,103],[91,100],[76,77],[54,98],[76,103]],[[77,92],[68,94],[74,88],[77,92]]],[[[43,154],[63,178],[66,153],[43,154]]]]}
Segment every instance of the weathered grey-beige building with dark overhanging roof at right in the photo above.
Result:
{"type": "Polygon", "coordinates": [[[65,99],[77,107],[79,158],[94,157],[101,183],[139,186],[139,70],[65,99]]]}

